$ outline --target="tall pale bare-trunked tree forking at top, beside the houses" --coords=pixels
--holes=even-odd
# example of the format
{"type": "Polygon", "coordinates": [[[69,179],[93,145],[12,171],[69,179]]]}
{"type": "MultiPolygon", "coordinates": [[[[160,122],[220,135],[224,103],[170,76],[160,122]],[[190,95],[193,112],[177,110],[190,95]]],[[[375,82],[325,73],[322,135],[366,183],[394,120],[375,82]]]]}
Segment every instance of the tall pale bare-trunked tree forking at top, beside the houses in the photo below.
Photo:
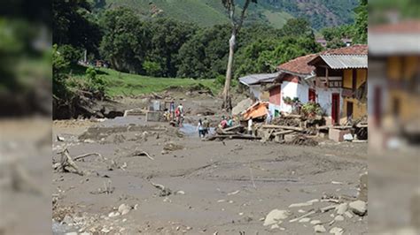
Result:
{"type": "Polygon", "coordinates": [[[235,44],[237,40],[237,33],[240,31],[242,24],[245,19],[245,12],[248,9],[249,4],[257,4],[257,0],[245,0],[245,4],[242,7],[241,14],[239,18],[235,16],[236,4],[235,0],[222,0],[223,6],[229,12],[229,19],[231,24],[231,34],[229,39],[229,57],[228,57],[228,67],[226,69],[226,80],[223,88],[223,102],[222,109],[231,110],[232,109],[232,100],[230,97],[230,83],[232,80],[232,66],[233,66],[233,54],[235,52],[235,44]]]}

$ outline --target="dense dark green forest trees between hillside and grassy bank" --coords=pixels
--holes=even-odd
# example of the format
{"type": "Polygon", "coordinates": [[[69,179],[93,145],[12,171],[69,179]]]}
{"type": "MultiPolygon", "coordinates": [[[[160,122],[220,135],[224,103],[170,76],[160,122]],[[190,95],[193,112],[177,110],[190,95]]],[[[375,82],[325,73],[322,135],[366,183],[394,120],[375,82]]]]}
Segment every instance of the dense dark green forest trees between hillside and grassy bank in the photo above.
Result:
{"type": "MultiPolygon", "coordinates": [[[[187,1],[188,2],[188,1],[187,1]]],[[[216,2],[216,1],[213,1],[216,2]]],[[[239,1],[240,2],[240,1],[239,1]]],[[[267,1],[259,1],[258,4],[267,1]]],[[[228,23],[202,27],[169,17],[144,17],[126,6],[98,10],[100,1],[53,1],[53,95],[55,101],[74,101],[78,91],[89,98],[105,95],[105,81],[94,68],[87,80],[72,76],[88,62],[100,60],[118,72],[157,78],[215,79],[224,83],[231,27],[228,23]]],[[[222,2],[219,2],[222,7],[222,2]]],[[[272,3],[281,4],[281,1],[272,3]]],[[[254,4],[253,4],[253,7],[254,4]]],[[[320,32],[329,47],[344,46],[342,37],[367,41],[367,5],[355,8],[355,23],[324,28],[320,32]]],[[[156,10],[159,11],[159,10],[156,10]]],[[[250,7],[247,12],[252,12],[250,7]]],[[[246,18],[249,19],[249,18],[246,18]]],[[[274,72],[278,64],[294,57],[319,52],[315,29],[305,18],[287,19],[284,26],[248,22],[238,34],[233,78],[249,73],[274,72]]]]}

